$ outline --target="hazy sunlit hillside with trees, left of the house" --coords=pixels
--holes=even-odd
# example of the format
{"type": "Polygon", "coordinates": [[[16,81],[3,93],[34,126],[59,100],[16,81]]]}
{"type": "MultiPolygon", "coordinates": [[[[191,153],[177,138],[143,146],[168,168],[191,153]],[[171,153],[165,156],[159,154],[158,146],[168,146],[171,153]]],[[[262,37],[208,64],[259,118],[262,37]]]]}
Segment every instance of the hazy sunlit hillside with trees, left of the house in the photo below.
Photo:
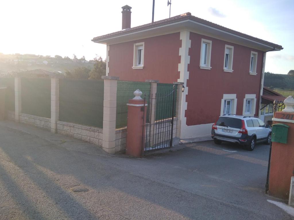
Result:
{"type": "Polygon", "coordinates": [[[34,54],[5,55],[0,53],[0,74],[35,69],[64,73],[65,70],[73,70],[77,67],[93,69],[93,63],[85,59],[70,59],[69,57],[62,58],[60,56],[55,58],[34,54]]]}

